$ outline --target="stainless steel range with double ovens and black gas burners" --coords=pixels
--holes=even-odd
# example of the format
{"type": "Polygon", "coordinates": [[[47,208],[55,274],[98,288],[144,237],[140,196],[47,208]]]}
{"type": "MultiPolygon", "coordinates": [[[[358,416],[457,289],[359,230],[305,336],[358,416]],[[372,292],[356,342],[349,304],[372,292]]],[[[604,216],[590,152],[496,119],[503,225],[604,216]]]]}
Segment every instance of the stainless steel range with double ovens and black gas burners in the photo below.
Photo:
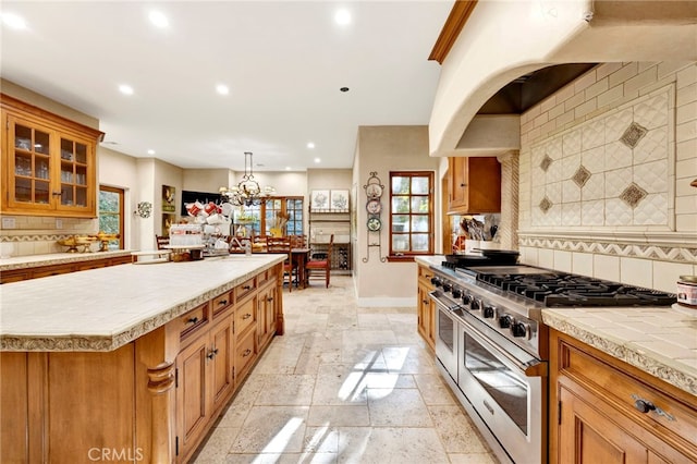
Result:
{"type": "Polygon", "coordinates": [[[676,301],[668,293],[530,266],[443,265],[431,267],[439,368],[501,462],[547,462],[542,308],[676,301]]]}

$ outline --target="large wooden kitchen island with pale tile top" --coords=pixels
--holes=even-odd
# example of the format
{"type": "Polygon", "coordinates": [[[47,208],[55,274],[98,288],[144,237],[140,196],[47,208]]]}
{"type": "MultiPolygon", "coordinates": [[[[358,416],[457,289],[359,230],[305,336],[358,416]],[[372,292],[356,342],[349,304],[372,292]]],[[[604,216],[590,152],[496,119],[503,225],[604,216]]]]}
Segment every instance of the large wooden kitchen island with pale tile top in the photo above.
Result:
{"type": "Polygon", "coordinates": [[[274,334],[284,255],[2,285],[1,462],[185,462],[274,334]]]}

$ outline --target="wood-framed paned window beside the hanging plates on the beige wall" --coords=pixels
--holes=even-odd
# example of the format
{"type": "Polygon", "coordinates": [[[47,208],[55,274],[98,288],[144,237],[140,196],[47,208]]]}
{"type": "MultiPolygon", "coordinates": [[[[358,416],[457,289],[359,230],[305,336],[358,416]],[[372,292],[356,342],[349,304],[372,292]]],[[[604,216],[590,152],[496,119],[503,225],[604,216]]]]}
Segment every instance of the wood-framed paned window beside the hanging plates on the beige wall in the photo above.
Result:
{"type": "Polygon", "coordinates": [[[433,254],[432,193],[430,171],[390,172],[391,259],[433,254]]]}

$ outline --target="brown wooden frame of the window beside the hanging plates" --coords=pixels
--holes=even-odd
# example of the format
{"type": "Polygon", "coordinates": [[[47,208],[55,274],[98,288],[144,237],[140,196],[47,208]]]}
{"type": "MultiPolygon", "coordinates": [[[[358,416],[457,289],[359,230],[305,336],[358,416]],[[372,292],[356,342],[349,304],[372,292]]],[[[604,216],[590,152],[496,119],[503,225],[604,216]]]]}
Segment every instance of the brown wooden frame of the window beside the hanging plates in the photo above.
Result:
{"type": "MultiPolygon", "coordinates": [[[[390,171],[389,172],[389,191],[390,191],[390,195],[389,195],[389,204],[388,204],[388,216],[389,216],[389,229],[388,229],[388,241],[389,241],[389,246],[388,246],[388,261],[413,261],[415,256],[428,256],[428,255],[432,255],[433,251],[436,249],[436,231],[435,231],[435,227],[436,227],[436,211],[435,211],[435,199],[433,199],[433,195],[435,195],[435,173],[433,171],[390,171]],[[409,230],[409,232],[407,233],[395,233],[393,231],[393,217],[394,216],[405,216],[405,213],[403,212],[393,212],[392,210],[392,197],[393,195],[393,188],[392,188],[392,181],[394,178],[427,178],[428,179],[428,249],[424,251],[424,252],[415,252],[412,248],[412,240],[411,240],[411,235],[414,233],[419,233],[419,232],[413,232],[409,230]],[[393,243],[393,235],[403,235],[403,234],[408,234],[409,235],[409,249],[406,252],[403,251],[399,251],[395,252],[392,248],[392,243],[393,243]]],[[[401,196],[401,195],[399,195],[401,196]]],[[[423,196],[423,195],[413,195],[411,193],[409,190],[409,205],[411,205],[411,198],[413,196],[423,196]]],[[[407,216],[409,216],[409,223],[411,223],[411,217],[413,216],[413,212],[409,211],[408,213],[406,213],[407,216]]]]}

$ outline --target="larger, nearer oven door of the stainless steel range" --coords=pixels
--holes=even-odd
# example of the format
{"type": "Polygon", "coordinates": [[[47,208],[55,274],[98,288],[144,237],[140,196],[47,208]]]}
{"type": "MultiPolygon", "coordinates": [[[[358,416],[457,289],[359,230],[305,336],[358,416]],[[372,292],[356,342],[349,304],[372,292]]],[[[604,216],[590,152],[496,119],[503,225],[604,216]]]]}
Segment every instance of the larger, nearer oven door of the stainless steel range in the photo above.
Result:
{"type": "Polygon", "coordinates": [[[458,326],[457,384],[514,462],[546,462],[547,363],[476,322],[458,326]]]}

